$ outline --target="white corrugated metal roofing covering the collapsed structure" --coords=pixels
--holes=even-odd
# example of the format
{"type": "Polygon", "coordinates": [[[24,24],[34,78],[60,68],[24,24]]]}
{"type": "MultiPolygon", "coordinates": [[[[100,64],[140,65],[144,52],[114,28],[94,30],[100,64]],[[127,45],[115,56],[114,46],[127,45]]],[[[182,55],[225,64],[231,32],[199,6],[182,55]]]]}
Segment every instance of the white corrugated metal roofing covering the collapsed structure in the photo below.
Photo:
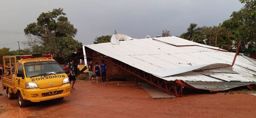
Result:
{"type": "MultiPolygon", "coordinates": [[[[176,41],[175,44],[177,45],[191,45],[195,43],[177,37],[159,37],[154,39],[169,41],[169,43],[176,41]]],[[[200,45],[199,43],[196,44],[200,45]]],[[[231,65],[235,56],[235,53],[214,50],[218,49],[218,47],[213,48],[210,46],[212,49],[200,46],[177,47],[152,40],[152,38],[120,41],[119,45],[99,43],[86,46],[96,52],[120,60],[123,63],[167,81],[175,81],[177,79],[183,81],[223,81],[198,72],[188,71],[195,69],[193,66],[201,67],[201,65],[214,65],[216,63],[231,65]]],[[[210,66],[204,67],[209,68],[210,66]]],[[[256,75],[256,65],[242,56],[237,56],[233,70],[241,74],[239,77],[242,78],[234,76],[234,78],[224,80],[256,81],[256,78],[248,80],[248,78],[243,77],[243,75],[256,75]]],[[[229,73],[228,71],[225,72],[229,73]]]]}

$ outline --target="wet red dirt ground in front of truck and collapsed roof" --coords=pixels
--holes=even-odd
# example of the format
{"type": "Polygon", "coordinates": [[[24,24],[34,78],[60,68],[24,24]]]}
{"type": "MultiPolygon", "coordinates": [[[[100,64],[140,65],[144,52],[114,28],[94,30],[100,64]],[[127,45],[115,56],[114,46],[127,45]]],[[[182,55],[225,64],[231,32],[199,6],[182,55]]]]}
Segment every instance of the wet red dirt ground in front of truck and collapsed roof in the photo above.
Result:
{"type": "MultiPolygon", "coordinates": [[[[0,88],[2,84],[0,83],[0,88]]],[[[18,106],[0,90],[0,118],[255,118],[256,97],[247,94],[192,94],[152,99],[131,82],[78,81],[72,95],[18,106]],[[117,85],[119,83],[119,85],[117,85]]]]}

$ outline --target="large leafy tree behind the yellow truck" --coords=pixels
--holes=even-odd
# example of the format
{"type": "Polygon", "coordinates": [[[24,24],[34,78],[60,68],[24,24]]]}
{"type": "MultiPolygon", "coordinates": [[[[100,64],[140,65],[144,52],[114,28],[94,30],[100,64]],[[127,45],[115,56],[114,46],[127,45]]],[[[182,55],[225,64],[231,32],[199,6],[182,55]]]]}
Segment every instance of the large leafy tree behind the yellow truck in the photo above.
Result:
{"type": "Polygon", "coordinates": [[[55,58],[67,58],[82,46],[74,39],[77,29],[68,21],[63,9],[41,13],[36,23],[24,29],[28,40],[23,42],[33,54],[52,54],[55,58]]]}

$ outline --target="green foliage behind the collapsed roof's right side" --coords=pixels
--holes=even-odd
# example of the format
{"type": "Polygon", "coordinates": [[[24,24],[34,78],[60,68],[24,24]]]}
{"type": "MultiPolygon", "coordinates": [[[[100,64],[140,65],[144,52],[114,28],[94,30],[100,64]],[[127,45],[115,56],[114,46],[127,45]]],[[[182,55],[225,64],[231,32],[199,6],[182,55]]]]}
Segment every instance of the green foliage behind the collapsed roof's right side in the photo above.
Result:
{"type": "Polygon", "coordinates": [[[256,0],[239,1],[244,3],[244,7],[238,12],[233,12],[230,19],[219,26],[197,28],[197,24],[191,23],[187,32],[180,37],[193,41],[209,39],[208,45],[226,50],[232,47],[232,40],[236,40],[236,43],[241,41],[241,50],[256,51],[256,0]]]}

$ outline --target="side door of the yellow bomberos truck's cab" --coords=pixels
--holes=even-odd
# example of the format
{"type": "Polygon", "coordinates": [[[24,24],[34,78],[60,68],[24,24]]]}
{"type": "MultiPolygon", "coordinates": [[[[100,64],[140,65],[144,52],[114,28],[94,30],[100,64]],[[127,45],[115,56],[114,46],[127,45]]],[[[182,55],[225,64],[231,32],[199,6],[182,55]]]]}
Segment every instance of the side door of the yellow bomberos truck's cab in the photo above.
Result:
{"type": "Polygon", "coordinates": [[[24,71],[23,71],[23,65],[21,63],[18,63],[17,71],[15,74],[15,86],[20,88],[25,88],[24,83],[24,71]]]}

